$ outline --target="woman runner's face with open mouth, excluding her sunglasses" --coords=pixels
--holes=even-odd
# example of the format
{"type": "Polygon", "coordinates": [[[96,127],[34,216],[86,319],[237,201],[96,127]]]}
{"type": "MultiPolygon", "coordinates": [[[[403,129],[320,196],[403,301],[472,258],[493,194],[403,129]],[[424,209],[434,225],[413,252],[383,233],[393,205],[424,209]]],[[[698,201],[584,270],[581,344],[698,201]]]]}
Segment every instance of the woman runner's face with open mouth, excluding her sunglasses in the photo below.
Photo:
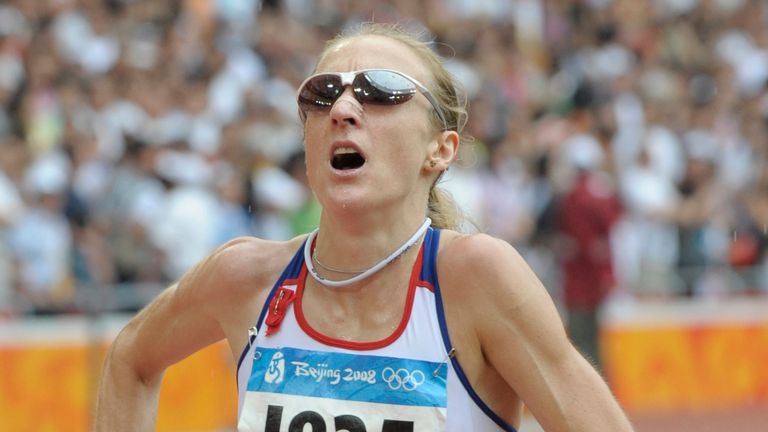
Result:
{"type": "MultiPolygon", "coordinates": [[[[427,87],[426,66],[406,45],[381,36],[343,42],[318,72],[394,69],[427,87]]],[[[392,106],[362,105],[346,87],[330,111],[310,111],[305,123],[309,183],[326,210],[374,210],[426,205],[430,174],[423,168],[440,136],[421,93],[392,106]],[[341,156],[347,153],[356,155],[341,156]]]]}

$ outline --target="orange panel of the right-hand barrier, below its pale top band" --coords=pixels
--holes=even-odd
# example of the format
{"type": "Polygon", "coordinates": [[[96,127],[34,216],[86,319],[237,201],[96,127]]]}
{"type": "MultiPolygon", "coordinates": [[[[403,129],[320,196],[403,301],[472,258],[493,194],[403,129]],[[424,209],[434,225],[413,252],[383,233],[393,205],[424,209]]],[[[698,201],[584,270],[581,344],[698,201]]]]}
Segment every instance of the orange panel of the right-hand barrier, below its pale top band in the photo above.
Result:
{"type": "Polygon", "coordinates": [[[768,403],[768,325],[613,329],[606,374],[632,409],[768,403]]]}

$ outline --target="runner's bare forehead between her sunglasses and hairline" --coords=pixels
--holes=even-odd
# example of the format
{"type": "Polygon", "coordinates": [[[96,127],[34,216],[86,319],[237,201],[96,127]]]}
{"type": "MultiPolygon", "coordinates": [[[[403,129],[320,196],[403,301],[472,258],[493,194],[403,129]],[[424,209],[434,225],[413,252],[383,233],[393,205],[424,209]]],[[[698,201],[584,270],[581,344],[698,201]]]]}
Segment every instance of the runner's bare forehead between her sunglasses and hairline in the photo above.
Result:
{"type": "Polygon", "coordinates": [[[418,55],[404,43],[386,36],[348,39],[332,48],[317,66],[318,72],[394,69],[426,81],[428,71],[418,55]]]}

